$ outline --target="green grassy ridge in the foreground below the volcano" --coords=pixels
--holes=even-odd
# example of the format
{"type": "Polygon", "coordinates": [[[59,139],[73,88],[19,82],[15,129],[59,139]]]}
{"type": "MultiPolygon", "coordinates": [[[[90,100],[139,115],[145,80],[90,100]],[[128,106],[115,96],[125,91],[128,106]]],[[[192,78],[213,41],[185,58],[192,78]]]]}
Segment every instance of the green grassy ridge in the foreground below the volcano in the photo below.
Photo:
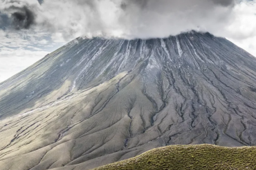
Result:
{"type": "Polygon", "coordinates": [[[93,170],[125,169],[256,169],[256,147],[175,145],[152,149],[140,156],[93,170]]]}

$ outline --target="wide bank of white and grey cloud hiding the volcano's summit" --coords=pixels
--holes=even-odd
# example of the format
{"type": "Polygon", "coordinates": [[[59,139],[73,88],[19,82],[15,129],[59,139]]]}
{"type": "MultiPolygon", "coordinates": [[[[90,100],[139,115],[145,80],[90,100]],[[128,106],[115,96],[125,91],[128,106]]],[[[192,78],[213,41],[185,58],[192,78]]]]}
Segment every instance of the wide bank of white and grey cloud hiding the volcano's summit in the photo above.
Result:
{"type": "Polygon", "coordinates": [[[12,28],[44,30],[64,39],[147,39],[190,30],[232,34],[237,4],[238,0],[0,0],[0,13],[8,16],[12,28]]]}

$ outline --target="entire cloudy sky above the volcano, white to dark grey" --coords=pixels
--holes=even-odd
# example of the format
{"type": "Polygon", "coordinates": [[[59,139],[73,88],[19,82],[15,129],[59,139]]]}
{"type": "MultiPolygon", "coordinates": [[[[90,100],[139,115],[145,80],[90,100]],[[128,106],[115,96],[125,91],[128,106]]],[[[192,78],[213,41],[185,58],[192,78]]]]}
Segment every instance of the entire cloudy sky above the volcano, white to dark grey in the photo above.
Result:
{"type": "Polygon", "coordinates": [[[256,56],[256,0],[0,0],[0,82],[75,39],[196,30],[256,56]]]}

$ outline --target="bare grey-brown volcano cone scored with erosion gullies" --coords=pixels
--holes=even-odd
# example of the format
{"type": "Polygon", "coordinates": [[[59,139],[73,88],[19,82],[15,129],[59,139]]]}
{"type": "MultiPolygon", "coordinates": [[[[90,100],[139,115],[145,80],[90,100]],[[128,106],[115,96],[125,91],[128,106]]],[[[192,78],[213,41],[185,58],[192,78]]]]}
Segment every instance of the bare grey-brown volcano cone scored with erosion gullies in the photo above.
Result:
{"type": "Polygon", "coordinates": [[[165,145],[256,145],[255,66],[209,33],[75,39],[0,84],[0,167],[92,169],[165,145]]]}

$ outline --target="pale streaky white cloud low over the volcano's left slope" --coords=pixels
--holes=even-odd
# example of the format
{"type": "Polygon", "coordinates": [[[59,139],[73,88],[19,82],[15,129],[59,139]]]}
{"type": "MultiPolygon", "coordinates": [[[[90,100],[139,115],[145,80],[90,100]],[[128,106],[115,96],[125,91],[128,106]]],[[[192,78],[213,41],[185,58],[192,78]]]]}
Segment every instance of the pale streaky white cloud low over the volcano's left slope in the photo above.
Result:
{"type": "Polygon", "coordinates": [[[44,32],[0,30],[0,83],[62,45],[46,38],[44,32]]]}

